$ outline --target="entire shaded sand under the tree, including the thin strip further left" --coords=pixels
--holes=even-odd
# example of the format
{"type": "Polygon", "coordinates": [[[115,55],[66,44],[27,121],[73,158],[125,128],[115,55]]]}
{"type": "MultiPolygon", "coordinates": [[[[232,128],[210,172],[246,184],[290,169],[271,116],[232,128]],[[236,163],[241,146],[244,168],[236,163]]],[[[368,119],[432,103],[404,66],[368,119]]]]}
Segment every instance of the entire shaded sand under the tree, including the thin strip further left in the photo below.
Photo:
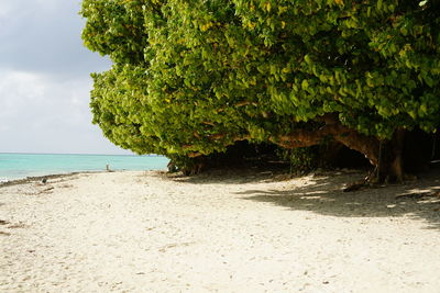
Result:
{"type": "Polygon", "coordinates": [[[292,211],[311,211],[341,217],[400,217],[425,219],[428,228],[440,229],[440,168],[404,184],[387,184],[343,192],[346,184],[364,178],[366,171],[322,171],[293,178],[283,188],[257,189],[262,182],[286,180],[279,170],[226,169],[194,177],[169,176],[167,179],[190,184],[246,184],[237,192],[243,200],[268,202],[292,211]],[[301,183],[302,182],[302,183],[301,183]],[[249,184],[251,183],[251,184],[249,184]]]}

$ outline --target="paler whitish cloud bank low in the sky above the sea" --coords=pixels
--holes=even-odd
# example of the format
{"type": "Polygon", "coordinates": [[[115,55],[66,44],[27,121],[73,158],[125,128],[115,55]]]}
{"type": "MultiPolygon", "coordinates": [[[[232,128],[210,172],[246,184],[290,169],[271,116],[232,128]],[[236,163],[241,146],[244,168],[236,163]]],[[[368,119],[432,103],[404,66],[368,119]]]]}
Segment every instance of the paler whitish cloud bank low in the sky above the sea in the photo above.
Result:
{"type": "Polygon", "coordinates": [[[129,154],[91,124],[88,78],[0,71],[0,151],[129,154]]]}

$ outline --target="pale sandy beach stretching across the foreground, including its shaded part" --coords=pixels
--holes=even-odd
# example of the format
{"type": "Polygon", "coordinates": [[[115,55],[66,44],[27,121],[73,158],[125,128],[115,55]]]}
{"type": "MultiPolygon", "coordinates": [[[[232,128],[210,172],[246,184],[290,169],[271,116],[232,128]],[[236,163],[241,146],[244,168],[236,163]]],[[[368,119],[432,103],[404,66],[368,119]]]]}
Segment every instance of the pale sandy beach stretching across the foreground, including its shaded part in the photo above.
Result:
{"type": "Polygon", "coordinates": [[[0,292],[440,292],[440,176],[341,191],[362,176],[1,187],[0,292]]]}

